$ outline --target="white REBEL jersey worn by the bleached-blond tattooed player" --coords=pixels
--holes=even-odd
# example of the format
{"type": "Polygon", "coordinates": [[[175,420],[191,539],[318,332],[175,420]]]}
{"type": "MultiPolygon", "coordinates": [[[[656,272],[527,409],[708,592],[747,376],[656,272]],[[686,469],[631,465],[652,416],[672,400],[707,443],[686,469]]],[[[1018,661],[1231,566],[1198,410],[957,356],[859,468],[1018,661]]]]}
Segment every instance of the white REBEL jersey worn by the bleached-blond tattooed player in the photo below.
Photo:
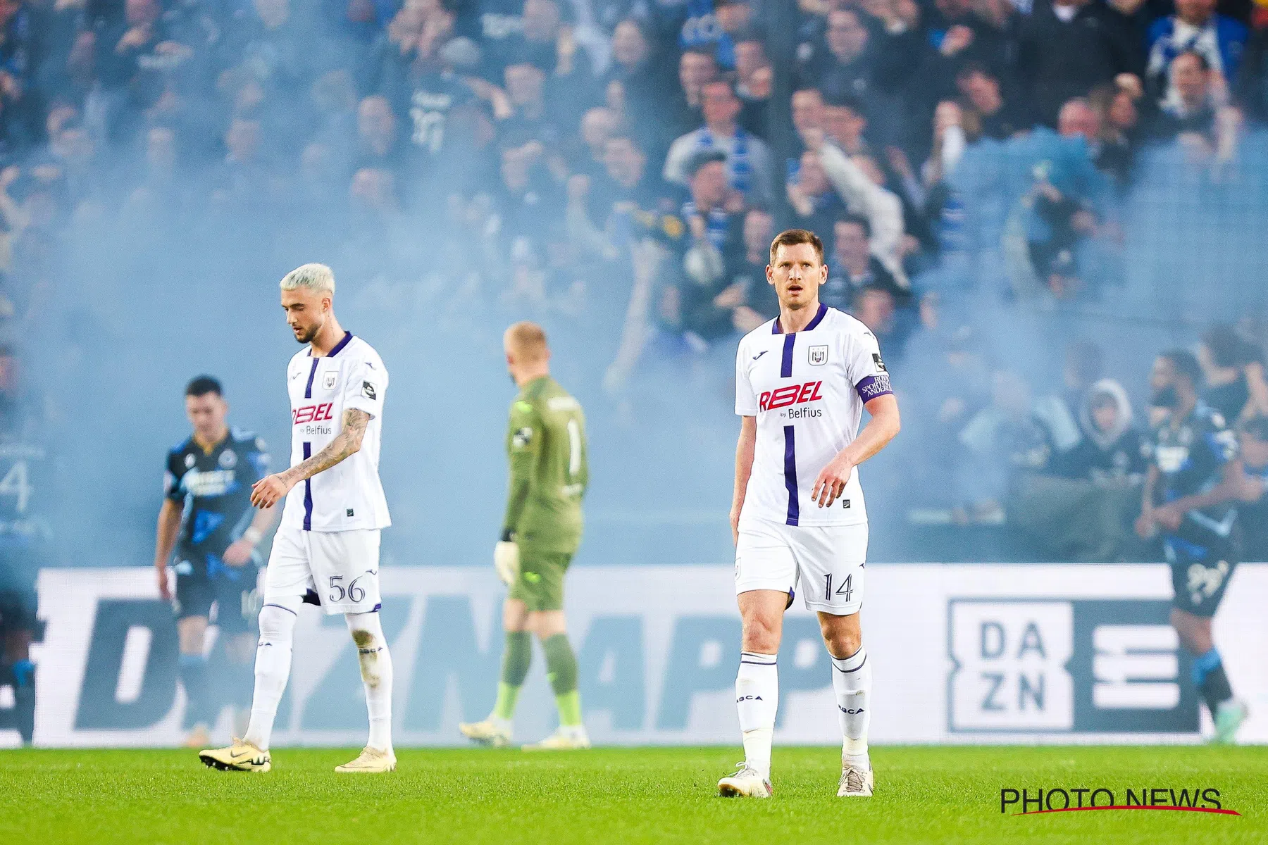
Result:
{"type": "Polygon", "coordinates": [[[392,524],[379,483],[379,442],[388,371],[369,343],[351,332],[330,355],[303,350],[287,366],[290,394],[290,465],[320,452],[342,428],[344,412],[370,414],[361,448],[290,488],[281,524],[304,531],[385,528],[392,524]]]}

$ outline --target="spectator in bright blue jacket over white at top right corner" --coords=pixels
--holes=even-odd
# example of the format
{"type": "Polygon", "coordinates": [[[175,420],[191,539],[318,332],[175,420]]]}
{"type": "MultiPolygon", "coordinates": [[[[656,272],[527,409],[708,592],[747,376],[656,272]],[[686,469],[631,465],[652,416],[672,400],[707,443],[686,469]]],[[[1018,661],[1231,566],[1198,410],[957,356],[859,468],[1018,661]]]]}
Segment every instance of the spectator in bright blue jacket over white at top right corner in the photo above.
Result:
{"type": "Polygon", "coordinates": [[[1175,60],[1182,53],[1205,60],[1203,70],[1216,79],[1219,98],[1227,99],[1227,85],[1236,79],[1248,33],[1245,24],[1216,14],[1215,6],[1216,0],[1175,0],[1175,14],[1149,28],[1145,84],[1161,103],[1174,108],[1184,98],[1175,79],[1175,60]]]}

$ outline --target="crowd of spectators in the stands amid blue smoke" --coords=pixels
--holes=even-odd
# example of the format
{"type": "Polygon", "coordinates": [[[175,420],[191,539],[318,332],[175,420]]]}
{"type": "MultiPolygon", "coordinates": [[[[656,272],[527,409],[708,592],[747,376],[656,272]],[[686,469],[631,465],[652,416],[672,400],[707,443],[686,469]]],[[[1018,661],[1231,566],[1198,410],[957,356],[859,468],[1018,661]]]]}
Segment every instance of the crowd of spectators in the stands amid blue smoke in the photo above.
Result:
{"type": "MultiPolygon", "coordinates": [[[[1113,560],[1145,372],[1066,321],[1093,337],[1045,383],[997,318],[1112,302],[1142,162],[1245,184],[1264,120],[1246,0],[0,0],[0,309],[20,347],[84,232],[302,231],[437,328],[474,299],[597,327],[637,404],[666,361],[725,391],[772,234],[810,228],[909,385],[912,518],[1113,560]]],[[[1210,328],[1203,389],[1268,435],[1260,332],[1210,328]]]]}

